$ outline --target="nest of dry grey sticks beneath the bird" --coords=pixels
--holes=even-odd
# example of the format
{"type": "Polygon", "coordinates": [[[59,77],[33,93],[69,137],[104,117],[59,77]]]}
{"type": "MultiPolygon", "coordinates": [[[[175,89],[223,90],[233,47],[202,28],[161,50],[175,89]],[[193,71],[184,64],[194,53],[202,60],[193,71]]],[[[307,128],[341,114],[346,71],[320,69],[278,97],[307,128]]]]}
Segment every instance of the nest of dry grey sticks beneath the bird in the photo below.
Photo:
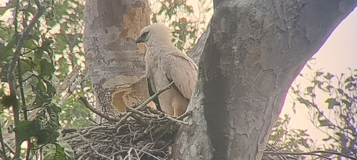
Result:
{"type": "Polygon", "coordinates": [[[171,85],[172,83],[141,105],[127,108],[117,118],[96,110],[85,97],[80,97],[87,108],[109,122],[93,127],[65,129],[60,139],[71,146],[76,160],[167,159],[180,125],[192,125],[182,121],[191,112],[175,117],[146,105],[171,85]]]}

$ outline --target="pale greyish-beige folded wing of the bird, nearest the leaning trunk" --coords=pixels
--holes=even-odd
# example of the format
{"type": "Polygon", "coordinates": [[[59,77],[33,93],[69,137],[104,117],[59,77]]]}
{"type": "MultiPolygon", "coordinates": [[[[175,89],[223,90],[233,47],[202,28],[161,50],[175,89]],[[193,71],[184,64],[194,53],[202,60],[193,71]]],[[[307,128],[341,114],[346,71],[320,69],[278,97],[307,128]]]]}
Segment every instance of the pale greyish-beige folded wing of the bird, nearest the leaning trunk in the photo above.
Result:
{"type": "Polygon", "coordinates": [[[190,100],[197,81],[197,65],[182,53],[164,55],[160,59],[160,68],[169,81],[174,81],[173,88],[190,100]]]}

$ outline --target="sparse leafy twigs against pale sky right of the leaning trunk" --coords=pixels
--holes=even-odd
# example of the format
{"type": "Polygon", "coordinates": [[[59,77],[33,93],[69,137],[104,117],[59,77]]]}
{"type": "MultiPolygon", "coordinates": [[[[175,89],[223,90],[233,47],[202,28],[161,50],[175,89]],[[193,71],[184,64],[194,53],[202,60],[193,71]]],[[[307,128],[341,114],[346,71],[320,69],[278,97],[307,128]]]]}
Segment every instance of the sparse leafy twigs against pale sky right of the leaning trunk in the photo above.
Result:
{"type": "Polygon", "coordinates": [[[291,90],[309,109],[311,123],[327,135],[322,148],[357,157],[357,69],[348,75],[316,71],[310,81],[303,90],[300,85],[291,90]],[[323,97],[326,105],[320,104],[323,97]]]}

